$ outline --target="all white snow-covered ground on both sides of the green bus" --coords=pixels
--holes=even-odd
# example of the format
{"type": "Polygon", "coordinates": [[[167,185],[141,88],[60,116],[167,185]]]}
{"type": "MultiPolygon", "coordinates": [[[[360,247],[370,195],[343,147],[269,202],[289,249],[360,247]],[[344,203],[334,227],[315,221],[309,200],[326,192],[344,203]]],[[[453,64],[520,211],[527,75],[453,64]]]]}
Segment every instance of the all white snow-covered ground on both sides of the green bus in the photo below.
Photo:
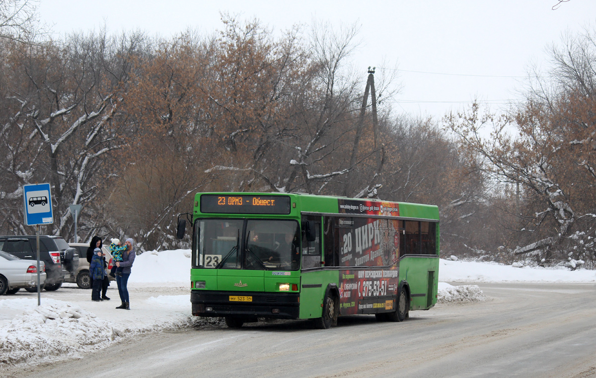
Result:
{"type": "MultiPolygon", "coordinates": [[[[0,367],[7,364],[73,358],[138,333],[221,324],[190,316],[190,252],[145,252],[136,257],[129,279],[131,311],[113,300],[91,302],[91,291],[64,284],[56,292],[24,290],[0,297],[0,367]]],[[[468,302],[486,297],[469,283],[596,283],[596,271],[516,268],[480,262],[440,260],[439,302],[468,302]],[[449,284],[466,283],[466,285],[449,284]]]]}

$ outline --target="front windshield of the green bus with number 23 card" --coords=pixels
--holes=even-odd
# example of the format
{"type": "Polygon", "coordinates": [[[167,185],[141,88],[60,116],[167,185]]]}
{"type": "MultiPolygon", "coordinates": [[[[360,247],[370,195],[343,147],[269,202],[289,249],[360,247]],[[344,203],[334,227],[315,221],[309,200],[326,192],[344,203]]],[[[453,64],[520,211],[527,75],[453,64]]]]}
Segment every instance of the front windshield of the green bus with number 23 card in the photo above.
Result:
{"type": "Polygon", "coordinates": [[[197,219],[193,267],[297,270],[298,222],[283,219],[197,219]]]}

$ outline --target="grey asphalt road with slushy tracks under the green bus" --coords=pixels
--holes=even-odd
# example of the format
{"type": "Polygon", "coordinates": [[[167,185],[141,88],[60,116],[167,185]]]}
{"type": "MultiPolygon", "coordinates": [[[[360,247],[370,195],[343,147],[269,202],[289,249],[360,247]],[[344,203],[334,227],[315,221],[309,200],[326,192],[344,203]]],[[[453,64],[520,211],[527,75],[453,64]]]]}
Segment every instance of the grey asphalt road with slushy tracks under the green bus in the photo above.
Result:
{"type": "Polygon", "coordinates": [[[410,312],[147,334],[10,377],[596,377],[596,286],[480,284],[491,300],[410,312]]]}

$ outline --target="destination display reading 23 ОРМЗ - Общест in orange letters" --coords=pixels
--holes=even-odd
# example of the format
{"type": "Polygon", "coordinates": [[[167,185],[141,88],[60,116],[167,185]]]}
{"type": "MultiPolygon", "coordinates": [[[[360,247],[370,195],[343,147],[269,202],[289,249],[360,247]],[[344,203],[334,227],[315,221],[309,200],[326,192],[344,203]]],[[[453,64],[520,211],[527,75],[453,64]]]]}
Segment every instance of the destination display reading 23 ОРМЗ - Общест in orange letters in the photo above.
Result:
{"type": "Polygon", "coordinates": [[[201,213],[287,215],[290,213],[290,197],[203,194],[201,213]]]}

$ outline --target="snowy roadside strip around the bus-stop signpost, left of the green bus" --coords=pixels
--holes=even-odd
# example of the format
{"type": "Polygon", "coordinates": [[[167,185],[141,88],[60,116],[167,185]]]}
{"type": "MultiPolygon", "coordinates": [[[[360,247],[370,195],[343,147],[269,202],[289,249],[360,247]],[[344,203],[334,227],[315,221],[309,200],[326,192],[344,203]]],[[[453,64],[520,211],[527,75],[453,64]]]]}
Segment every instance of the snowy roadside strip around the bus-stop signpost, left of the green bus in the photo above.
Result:
{"type": "Polygon", "coordinates": [[[135,303],[136,311],[117,310],[117,302],[104,301],[102,317],[81,307],[98,305],[88,302],[89,298],[79,305],[45,298],[38,307],[37,298],[0,300],[0,312],[21,310],[0,327],[0,366],[76,357],[123,337],[191,324],[190,295],[150,297],[135,303]]]}

